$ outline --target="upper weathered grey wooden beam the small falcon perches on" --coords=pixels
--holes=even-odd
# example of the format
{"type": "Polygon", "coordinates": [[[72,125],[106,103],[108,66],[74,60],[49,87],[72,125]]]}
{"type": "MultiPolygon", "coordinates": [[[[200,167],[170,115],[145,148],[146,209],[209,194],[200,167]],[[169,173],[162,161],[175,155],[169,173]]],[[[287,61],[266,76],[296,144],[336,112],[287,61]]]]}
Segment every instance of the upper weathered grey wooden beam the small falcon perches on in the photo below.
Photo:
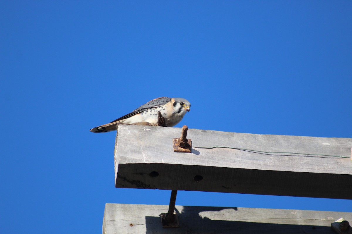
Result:
{"type": "Polygon", "coordinates": [[[351,138],[188,129],[192,153],[173,152],[180,135],[180,128],[119,125],[115,186],[352,199],[351,138]],[[291,153],[197,148],[214,146],[291,153]]]}

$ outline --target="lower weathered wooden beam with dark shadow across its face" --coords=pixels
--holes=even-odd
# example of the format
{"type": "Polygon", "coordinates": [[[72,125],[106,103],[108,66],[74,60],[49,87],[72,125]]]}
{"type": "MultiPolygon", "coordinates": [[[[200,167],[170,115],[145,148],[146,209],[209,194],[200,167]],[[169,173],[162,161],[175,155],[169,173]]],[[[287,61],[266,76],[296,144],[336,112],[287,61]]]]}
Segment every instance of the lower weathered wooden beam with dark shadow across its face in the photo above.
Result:
{"type": "Polygon", "coordinates": [[[352,221],[352,213],[347,212],[176,206],[180,228],[163,229],[159,214],[167,210],[166,205],[106,203],[103,234],[335,234],[331,223],[341,217],[350,223],[352,221]]]}

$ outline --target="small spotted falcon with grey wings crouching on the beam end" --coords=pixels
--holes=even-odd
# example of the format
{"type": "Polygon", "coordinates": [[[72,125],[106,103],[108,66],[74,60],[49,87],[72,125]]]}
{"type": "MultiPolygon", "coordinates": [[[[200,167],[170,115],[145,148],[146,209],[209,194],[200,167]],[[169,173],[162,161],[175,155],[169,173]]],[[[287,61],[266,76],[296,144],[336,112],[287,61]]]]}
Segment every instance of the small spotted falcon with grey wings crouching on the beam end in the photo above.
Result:
{"type": "Polygon", "coordinates": [[[156,98],[117,120],[90,129],[90,132],[101,133],[114,131],[118,123],[138,124],[147,122],[150,123],[150,125],[156,126],[159,111],[165,118],[166,126],[173,127],[182,120],[186,112],[189,112],[190,107],[191,103],[183,98],[156,98]]]}

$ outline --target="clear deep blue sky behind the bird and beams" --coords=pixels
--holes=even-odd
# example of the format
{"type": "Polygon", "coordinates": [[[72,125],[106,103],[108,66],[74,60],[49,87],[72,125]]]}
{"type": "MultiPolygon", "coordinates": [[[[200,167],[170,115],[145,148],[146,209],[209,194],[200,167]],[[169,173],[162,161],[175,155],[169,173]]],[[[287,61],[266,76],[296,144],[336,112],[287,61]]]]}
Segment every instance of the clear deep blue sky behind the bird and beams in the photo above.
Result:
{"type": "MultiPolygon", "coordinates": [[[[113,132],[161,96],[176,127],[351,138],[352,1],[1,1],[0,232],[100,233],[113,132]]],[[[352,211],[351,200],[180,191],[176,205],[352,211]]]]}

